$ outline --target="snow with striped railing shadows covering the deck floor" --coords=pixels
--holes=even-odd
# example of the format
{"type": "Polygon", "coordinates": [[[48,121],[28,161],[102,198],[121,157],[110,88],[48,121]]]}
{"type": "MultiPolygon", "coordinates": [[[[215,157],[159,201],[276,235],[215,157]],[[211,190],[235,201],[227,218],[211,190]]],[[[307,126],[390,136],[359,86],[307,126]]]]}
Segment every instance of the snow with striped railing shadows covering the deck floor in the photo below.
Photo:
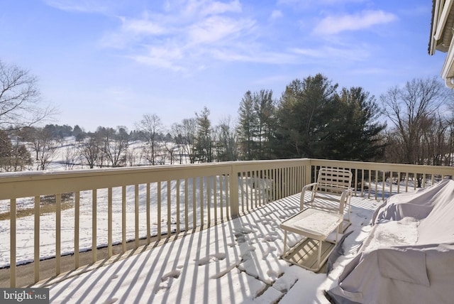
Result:
{"type": "MultiPolygon", "coordinates": [[[[280,259],[280,222],[299,195],[243,217],[48,286],[51,303],[328,303],[331,288],[370,232],[380,201],[352,198],[353,229],[333,271],[313,273],[280,259]]],[[[290,246],[301,237],[288,234],[290,246]]],[[[40,287],[40,286],[35,286],[40,287]]]]}

